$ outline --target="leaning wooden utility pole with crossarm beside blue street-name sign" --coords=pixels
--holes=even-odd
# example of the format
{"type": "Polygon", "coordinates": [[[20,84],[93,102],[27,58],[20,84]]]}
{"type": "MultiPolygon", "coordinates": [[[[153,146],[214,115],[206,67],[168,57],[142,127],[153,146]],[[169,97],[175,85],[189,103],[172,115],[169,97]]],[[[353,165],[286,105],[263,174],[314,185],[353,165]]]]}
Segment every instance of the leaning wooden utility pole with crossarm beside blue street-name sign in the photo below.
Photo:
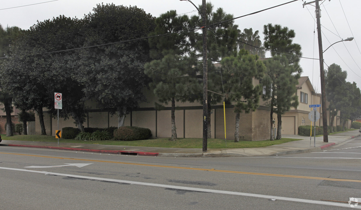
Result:
{"type": "Polygon", "coordinates": [[[322,126],[323,126],[323,142],[329,142],[328,129],[327,129],[327,110],[326,110],[326,86],[325,86],[325,70],[323,69],[323,50],[322,50],[322,35],[321,35],[321,10],[319,9],[318,0],[305,3],[312,4],[316,3],[316,19],[317,19],[317,35],[318,35],[318,53],[319,53],[319,68],[321,77],[321,102],[322,102],[322,126]]]}

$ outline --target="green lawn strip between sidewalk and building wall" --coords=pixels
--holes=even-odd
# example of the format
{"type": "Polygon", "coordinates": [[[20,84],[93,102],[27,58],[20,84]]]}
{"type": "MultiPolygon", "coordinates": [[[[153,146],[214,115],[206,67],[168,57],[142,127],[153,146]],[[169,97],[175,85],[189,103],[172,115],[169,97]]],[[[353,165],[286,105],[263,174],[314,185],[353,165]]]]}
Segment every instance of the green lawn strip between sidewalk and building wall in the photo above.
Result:
{"type": "MultiPolygon", "coordinates": [[[[21,141],[34,141],[34,142],[57,142],[54,136],[44,135],[14,135],[13,137],[2,136],[3,140],[21,140],[21,141]]],[[[207,147],[212,149],[216,148],[253,148],[253,147],[266,147],[274,144],[282,144],[292,142],[300,139],[287,139],[282,138],[279,140],[264,140],[264,141],[240,141],[235,143],[234,140],[224,139],[208,139],[207,147]]],[[[177,141],[170,141],[169,138],[137,140],[137,141],[79,141],[74,139],[59,139],[59,142],[64,143],[82,143],[82,144],[108,144],[108,145],[123,145],[123,146],[143,146],[143,147],[169,147],[169,148],[202,148],[201,138],[178,138],[177,141]]]]}

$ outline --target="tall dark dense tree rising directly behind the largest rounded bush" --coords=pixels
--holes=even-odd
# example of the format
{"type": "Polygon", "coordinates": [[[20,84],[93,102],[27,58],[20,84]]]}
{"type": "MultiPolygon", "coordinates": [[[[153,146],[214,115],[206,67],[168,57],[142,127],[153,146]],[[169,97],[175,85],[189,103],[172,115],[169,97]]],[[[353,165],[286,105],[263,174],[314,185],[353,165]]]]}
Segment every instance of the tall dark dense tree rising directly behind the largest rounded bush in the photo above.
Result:
{"type": "Polygon", "coordinates": [[[80,50],[78,78],[87,97],[117,113],[118,127],[123,126],[129,111],[146,100],[142,90],[148,83],[149,44],[141,38],[153,31],[154,18],[136,6],[98,4],[84,22],[84,46],[101,46],[80,50]]]}

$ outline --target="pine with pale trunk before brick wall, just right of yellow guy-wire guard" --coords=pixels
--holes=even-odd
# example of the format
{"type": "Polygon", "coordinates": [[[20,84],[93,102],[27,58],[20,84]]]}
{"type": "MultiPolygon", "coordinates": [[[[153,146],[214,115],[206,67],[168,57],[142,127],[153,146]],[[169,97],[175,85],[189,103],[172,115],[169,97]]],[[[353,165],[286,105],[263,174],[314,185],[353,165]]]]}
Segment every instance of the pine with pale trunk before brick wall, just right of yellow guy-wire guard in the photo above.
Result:
{"type": "Polygon", "coordinates": [[[227,78],[225,84],[229,99],[235,102],[236,128],[234,142],[239,142],[239,116],[243,111],[255,111],[262,94],[262,85],[253,85],[253,79],[264,77],[265,65],[258,61],[258,55],[251,55],[247,50],[240,50],[236,57],[225,57],[221,61],[223,75],[227,78]]]}

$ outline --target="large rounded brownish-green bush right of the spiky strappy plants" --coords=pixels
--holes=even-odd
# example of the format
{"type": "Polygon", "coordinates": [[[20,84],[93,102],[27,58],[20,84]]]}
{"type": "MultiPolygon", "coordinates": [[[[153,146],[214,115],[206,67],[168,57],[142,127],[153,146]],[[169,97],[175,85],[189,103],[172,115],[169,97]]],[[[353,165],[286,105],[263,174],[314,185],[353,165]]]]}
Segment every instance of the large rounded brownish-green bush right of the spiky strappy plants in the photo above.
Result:
{"type": "Polygon", "coordinates": [[[123,126],[114,130],[114,140],[134,141],[149,139],[151,137],[152,132],[148,128],[123,126]]]}

